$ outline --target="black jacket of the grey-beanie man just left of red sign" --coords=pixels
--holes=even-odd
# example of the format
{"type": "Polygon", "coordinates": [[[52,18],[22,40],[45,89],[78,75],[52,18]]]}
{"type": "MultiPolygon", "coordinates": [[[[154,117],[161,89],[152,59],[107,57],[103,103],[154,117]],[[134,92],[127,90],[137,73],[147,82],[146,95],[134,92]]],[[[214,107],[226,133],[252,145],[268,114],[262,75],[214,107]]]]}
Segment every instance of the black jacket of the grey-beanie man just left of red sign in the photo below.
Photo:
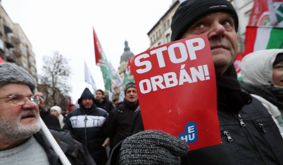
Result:
{"type": "Polygon", "coordinates": [[[113,149],[116,144],[131,135],[133,124],[133,112],[137,105],[129,105],[125,100],[120,102],[109,114],[107,119],[106,131],[110,138],[110,148],[113,149]]]}

